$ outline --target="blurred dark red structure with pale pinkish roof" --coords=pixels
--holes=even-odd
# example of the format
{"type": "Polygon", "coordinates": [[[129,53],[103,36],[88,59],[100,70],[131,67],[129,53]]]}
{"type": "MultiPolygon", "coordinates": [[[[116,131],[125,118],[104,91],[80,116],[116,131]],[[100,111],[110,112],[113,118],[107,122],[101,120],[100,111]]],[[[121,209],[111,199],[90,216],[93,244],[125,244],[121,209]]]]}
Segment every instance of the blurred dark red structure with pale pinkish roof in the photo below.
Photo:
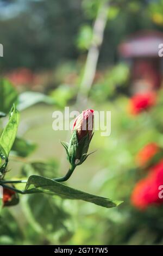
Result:
{"type": "Polygon", "coordinates": [[[131,63],[132,94],[158,89],[162,80],[162,58],[159,44],[163,43],[163,33],[141,31],[131,35],[119,46],[121,56],[131,63]]]}

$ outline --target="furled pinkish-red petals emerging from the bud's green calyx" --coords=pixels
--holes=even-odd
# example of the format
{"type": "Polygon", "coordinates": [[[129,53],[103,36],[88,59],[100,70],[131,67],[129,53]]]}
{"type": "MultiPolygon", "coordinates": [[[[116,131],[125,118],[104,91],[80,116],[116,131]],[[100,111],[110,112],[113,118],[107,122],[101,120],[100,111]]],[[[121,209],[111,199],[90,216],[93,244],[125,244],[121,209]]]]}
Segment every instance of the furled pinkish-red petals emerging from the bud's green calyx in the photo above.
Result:
{"type": "Polygon", "coordinates": [[[78,141],[89,133],[89,138],[92,137],[93,131],[93,109],[86,109],[74,121],[72,131],[76,130],[78,141]]]}

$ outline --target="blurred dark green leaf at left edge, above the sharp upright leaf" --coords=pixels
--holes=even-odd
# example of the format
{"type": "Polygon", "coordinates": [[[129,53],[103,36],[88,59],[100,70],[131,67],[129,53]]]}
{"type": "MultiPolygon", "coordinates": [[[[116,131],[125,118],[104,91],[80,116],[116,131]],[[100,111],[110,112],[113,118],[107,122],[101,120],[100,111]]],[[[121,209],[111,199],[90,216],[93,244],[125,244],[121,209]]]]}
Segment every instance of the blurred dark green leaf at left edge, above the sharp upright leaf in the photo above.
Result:
{"type": "Polygon", "coordinates": [[[17,92],[12,84],[2,78],[0,80],[0,111],[9,113],[12,105],[17,101],[17,92]]]}

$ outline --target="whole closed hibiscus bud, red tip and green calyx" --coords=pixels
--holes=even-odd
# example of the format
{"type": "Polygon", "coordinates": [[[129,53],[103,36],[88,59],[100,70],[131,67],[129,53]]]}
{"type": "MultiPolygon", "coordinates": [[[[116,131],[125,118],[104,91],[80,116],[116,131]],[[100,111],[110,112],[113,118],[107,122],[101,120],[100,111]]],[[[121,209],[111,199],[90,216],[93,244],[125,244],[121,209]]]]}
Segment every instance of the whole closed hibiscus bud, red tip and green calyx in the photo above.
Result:
{"type": "Polygon", "coordinates": [[[70,143],[62,142],[72,167],[82,164],[93,136],[93,109],[83,111],[74,121],[70,143]]]}

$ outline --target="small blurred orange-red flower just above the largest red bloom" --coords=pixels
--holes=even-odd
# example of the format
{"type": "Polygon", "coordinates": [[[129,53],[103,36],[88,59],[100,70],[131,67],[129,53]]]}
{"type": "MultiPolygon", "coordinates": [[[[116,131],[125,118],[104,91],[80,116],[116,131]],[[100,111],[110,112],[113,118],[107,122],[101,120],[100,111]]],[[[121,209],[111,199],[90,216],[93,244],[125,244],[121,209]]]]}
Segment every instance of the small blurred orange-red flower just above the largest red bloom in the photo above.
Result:
{"type": "Polygon", "coordinates": [[[136,156],[136,162],[139,166],[145,165],[149,160],[151,160],[156,153],[158,153],[160,148],[156,143],[149,143],[144,148],[142,148],[136,156]]]}

